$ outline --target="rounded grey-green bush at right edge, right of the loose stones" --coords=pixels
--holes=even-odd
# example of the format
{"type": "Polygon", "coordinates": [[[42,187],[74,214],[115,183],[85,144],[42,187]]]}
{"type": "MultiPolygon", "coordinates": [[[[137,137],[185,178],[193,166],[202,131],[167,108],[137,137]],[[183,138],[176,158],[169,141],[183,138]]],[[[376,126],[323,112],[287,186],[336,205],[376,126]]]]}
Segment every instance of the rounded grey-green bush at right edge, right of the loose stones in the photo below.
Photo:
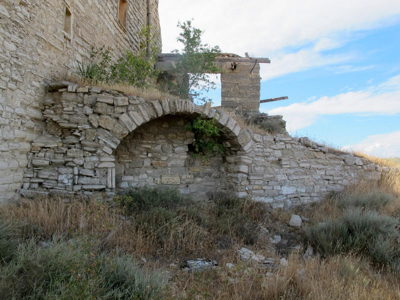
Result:
{"type": "Polygon", "coordinates": [[[399,221],[377,212],[347,209],[339,218],[304,229],[307,241],[323,255],[359,253],[378,264],[400,261],[399,221]]]}

